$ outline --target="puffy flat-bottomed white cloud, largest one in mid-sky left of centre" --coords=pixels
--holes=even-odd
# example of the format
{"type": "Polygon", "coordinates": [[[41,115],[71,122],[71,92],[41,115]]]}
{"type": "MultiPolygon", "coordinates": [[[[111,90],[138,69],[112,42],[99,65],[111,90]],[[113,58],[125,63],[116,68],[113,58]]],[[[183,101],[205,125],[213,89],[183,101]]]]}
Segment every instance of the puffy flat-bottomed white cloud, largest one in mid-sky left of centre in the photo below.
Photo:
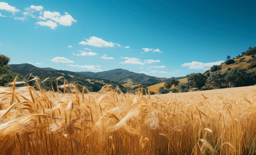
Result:
{"type": "Polygon", "coordinates": [[[90,39],[85,39],[86,41],[81,41],[78,44],[81,45],[90,45],[95,47],[114,47],[115,43],[112,43],[111,41],[107,42],[101,38],[92,36],[90,39]]]}

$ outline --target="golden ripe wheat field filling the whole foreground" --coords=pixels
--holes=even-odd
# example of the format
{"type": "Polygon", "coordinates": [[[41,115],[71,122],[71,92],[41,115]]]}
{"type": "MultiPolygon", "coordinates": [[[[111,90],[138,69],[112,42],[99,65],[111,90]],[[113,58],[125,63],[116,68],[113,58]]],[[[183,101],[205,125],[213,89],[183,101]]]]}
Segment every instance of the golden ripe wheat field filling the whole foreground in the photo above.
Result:
{"type": "Polygon", "coordinates": [[[1,155],[256,154],[256,86],[123,94],[0,87],[1,155]]]}

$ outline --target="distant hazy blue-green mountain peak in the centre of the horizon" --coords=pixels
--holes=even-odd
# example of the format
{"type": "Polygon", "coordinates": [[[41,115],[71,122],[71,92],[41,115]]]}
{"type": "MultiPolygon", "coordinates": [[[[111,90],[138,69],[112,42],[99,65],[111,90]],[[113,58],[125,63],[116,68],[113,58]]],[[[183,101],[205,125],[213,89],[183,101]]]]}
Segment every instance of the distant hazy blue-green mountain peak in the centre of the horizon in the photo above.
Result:
{"type": "Polygon", "coordinates": [[[104,72],[76,72],[85,76],[90,76],[92,78],[100,78],[100,79],[108,79],[111,81],[118,81],[118,82],[126,82],[128,79],[132,79],[135,83],[139,84],[149,84],[149,83],[159,83],[164,81],[164,78],[148,76],[146,74],[139,74],[135,72],[130,72],[124,69],[115,69],[115,70],[108,70],[104,72]]]}

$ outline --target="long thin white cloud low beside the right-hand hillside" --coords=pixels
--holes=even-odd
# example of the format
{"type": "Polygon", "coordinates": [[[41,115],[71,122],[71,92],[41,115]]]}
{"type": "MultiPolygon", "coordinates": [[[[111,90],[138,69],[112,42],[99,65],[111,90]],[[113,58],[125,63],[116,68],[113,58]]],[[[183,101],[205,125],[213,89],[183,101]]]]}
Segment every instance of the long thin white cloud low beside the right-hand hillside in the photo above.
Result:
{"type": "Polygon", "coordinates": [[[206,70],[209,70],[213,65],[220,65],[223,62],[225,62],[225,61],[216,61],[216,62],[209,62],[209,63],[192,61],[190,63],[183,63],[181,66],[189,67],[189,69],[206,71],[206,70]]]}

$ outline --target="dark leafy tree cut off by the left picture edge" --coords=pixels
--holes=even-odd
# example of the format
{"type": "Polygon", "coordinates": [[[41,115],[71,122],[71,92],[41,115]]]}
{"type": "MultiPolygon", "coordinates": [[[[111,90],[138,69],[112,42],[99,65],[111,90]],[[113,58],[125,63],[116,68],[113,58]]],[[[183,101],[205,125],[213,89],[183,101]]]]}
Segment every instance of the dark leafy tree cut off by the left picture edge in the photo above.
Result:
{"type": "Polygon", "coordinates": [[[0,86],[13,81],[13,72],[11,72],[11,68],[8,65],[9,62],[9,57],[0,55],[0,86]]]}

